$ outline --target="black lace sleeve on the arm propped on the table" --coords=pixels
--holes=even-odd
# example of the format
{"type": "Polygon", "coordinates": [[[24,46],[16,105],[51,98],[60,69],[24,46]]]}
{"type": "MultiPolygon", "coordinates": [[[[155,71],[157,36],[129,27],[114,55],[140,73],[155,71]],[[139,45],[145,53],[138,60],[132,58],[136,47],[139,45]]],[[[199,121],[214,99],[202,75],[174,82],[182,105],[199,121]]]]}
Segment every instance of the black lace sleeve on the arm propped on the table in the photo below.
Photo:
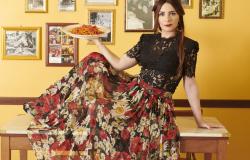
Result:
{"type": "Polygon", "coordinates": [[[183,76],[194,77],[195,76],[195,68],[196,68],[196,61],[197,61],[197,53],[199,51],[199,44],[198,42],[194,42],[190,44],[186,48],[186,55],[184,59],[184,69],[183,69],[183,76]]]}

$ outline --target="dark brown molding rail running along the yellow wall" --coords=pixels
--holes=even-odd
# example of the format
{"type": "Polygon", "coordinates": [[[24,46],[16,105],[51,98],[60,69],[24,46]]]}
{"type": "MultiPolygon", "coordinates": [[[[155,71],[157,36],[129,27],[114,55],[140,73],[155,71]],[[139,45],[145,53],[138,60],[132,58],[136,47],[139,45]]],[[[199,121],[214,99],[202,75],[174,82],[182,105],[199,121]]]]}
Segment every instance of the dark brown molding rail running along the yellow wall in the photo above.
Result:
{"type": "MultiPolygon", "coordinates": [[[[35,99],[36,97],[0,97],[0,106],[22,105],[35,99]]],[[[186,99],[175,99],[174,103],[176,107],[189,107],[186,99]]],[[[250,108],[250,100],[201,99],[201,106],[203,108],[250,108]]]]}

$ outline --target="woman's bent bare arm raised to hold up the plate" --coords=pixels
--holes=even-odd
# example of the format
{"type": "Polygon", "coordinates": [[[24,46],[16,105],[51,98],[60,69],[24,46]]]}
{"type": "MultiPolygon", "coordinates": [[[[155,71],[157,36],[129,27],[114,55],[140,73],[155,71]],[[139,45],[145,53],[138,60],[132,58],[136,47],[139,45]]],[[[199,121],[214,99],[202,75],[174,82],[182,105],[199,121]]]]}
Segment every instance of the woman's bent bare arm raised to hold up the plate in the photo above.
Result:
{"type": "Polygon", "coordinates": [[[117,70],[125,70],[131,68],[137,64],[135,58],[130,58],[126,54],[123,55],[121,58],[117,57],[113,54],[110,50],[104,46],[99,39],[92,40],[96,46],[98,47],[100,53],[108,60],[108,62],[112,65],[112,67],[117,70]]]}

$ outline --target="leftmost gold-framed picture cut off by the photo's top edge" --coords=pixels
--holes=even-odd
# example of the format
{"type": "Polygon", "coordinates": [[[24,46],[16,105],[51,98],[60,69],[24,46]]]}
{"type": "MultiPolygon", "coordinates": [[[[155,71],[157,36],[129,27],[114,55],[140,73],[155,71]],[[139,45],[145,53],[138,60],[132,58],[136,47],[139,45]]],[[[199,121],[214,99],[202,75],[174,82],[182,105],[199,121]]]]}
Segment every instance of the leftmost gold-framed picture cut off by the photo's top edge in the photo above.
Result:
{"type": "Polygon", "coordinates": [[[48,12],[48,0],[25,0],[25,12],[48,12]]]}

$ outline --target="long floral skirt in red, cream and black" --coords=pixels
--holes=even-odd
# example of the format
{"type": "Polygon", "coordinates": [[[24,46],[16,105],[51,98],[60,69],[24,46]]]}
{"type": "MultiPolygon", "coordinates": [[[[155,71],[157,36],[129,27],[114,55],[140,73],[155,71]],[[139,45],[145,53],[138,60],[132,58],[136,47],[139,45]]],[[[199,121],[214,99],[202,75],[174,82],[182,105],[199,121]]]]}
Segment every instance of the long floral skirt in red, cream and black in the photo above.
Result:
{"type": "Polygon", "coordinates": [[[99,53],[82,59],[34,101],[28,137],[38,160],[176,160],[170,92],[115,71],[99,53]]]}

